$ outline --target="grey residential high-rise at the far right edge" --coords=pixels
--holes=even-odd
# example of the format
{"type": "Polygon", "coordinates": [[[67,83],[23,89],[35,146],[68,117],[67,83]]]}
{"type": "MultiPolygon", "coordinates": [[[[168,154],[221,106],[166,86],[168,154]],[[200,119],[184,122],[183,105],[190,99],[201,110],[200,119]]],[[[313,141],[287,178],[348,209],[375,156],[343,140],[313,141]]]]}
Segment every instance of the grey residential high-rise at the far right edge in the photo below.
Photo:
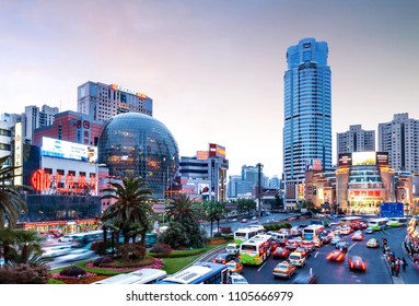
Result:
{"type": "Polygon", "coordinates": [[[379,123],[379,151],[388,152],[389,167],[419,170],[419,120],[396,114],[392,121],[379,123]]]}

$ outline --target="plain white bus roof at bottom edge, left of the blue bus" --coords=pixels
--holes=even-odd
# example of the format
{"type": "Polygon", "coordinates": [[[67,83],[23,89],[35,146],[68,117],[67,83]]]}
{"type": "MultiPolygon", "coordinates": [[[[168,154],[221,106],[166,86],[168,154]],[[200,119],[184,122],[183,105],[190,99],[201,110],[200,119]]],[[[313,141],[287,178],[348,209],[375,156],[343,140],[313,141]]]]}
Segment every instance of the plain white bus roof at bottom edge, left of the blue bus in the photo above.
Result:
{"type": "Polygon", "coordinates": [[[167,276],[167,272],[164,270],[143,268],[96,281],[92,284],[154,284],[165,276],[167,276]]]}

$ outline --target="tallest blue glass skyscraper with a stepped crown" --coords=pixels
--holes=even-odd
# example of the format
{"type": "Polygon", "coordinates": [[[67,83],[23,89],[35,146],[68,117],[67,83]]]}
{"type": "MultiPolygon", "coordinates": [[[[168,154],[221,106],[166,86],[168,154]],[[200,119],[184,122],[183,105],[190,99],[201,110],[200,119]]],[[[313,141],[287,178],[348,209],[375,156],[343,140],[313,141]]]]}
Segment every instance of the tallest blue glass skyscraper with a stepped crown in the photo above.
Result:
{"type": "Polygon", "coordinates": [[[331,72],[327,56],[327,43],[314,38],[304,38],[287,50],[283,173],[286,198],[295,202],[296,187],[311,160],[331,167],[331,72]]]}

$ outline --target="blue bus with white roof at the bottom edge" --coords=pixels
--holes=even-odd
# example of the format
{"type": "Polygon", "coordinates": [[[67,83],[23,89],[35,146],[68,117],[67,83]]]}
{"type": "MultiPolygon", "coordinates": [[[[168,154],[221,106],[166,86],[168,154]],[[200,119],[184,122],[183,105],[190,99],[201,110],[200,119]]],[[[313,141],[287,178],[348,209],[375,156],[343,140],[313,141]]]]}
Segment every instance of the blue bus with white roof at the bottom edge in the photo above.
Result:
{"type": "Polygon", "coordinates": [[[156,281],[155,284],[226,284],[229,271],[222,263],[197,262],[156,281]]]}

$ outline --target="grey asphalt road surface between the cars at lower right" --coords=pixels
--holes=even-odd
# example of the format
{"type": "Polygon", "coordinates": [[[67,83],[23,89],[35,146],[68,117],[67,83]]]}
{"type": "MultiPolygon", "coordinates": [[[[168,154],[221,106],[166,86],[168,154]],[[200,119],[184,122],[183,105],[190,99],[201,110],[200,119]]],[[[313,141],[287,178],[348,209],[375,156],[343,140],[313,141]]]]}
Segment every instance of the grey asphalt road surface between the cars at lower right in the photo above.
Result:
{"type": "MultiPolygon", "coordinates": [[[[310,222],[296,221],[293,222],[293,224],[294,223],[307,224],[310,222]]],[[[235,229],[236,227],[243,226],[243,224],[233,223],[229,224],[229,226],[232,226],[235,229]]],[[[382,243],[382,238],[386,237],[388,246],[392,250],[394,250],[395,256],[408,259],[403,250],[403,239],[405,236],[406,227],[389,228],[384,232],[364,234],[364,239],[362,242],[353,242],[351,239],[351,234],[342,236],[342,238],[349,244],[346,260],[342,262],[328,261],[326,256],[335,249],[335,246],[324,245],[313,251],[312,256],[309,257],[306,264],[303,268],[298,268],[296,273],[290,280],[273,278],[272,270],[275,266],[281,261],[281,259],[273,259],[272,256],[270,256],[261,266],[245,266],[243,275],[251,284],[290,284],[293,282],[298,273],[310,273],[310,271],[317,275],[319,284],[419,284],[419,271],[416,270],[412,263],[408,264],[406,271],[401,271],[400,279],[395,280],[389,273],[382,248],[366,247],[368,239],[374,237],[382,243]],[[364,259],[366,262],[365,272],[349,270],[347,258],[351,255],[359,255],[364,259]]]]}

